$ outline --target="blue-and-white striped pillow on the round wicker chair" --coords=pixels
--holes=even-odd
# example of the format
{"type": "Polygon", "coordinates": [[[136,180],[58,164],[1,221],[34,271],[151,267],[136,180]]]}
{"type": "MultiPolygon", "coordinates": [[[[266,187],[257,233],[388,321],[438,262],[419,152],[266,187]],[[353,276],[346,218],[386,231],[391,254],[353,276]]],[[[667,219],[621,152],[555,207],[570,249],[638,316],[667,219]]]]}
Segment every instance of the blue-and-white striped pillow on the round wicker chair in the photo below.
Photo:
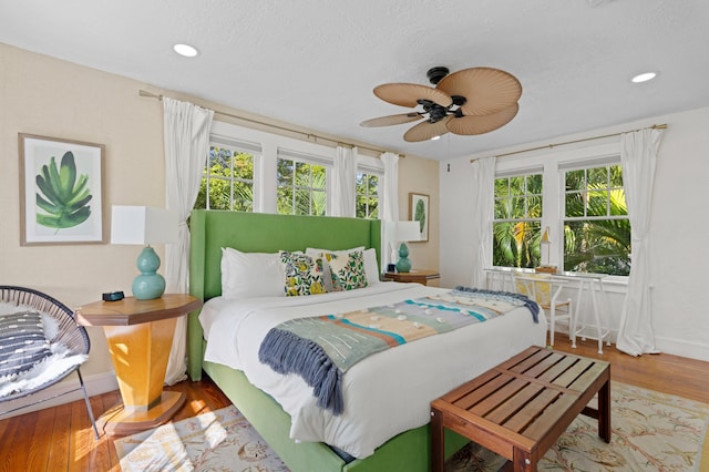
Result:
{"type": "Polygon", "coordinates": [[[0,315],[0,378],[30,370],[49,356],[51,351],[40,314],[0,315]]]}

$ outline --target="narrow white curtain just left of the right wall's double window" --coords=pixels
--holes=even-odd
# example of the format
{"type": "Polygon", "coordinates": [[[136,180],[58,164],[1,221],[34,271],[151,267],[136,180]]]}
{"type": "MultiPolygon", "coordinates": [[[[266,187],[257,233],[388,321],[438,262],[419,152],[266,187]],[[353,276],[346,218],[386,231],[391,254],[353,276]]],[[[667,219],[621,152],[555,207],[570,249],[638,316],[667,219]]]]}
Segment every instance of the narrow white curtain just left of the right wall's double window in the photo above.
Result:
{"type": "Polygon", "coordinates": [[[485,288],[485,267],[492,264],[492,220],[494,218],[496,157],[473,162],[473,274],[471,287],[485,288]]]}

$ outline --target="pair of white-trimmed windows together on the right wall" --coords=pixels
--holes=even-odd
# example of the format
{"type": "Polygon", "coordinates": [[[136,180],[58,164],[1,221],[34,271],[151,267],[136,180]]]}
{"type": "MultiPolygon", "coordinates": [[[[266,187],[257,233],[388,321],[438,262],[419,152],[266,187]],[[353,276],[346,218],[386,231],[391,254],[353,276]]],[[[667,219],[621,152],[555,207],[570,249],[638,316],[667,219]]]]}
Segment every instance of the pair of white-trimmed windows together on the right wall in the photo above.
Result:
{"type": "Polygon", "coordinates": [[[618,144],[497,160],[496,167],[494,266],[629,275],[618,144]],[[549,244],[542,245],[547,228],[549,244]]]}

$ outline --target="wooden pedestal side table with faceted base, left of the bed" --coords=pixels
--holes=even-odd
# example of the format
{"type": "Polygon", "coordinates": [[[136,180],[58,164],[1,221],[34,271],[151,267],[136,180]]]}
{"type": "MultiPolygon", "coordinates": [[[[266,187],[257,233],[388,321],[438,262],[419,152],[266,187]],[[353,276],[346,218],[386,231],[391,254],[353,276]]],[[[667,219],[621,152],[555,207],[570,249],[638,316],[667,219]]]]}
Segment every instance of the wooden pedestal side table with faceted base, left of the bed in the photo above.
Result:
{"type": "Polygon", "coordinates": [[[96,421],[107,435],[154,428],[183,406],[184,393],[163,391],[163,383],[177,317],[199,307],[198,298],[175,294],[95,301],[75,310],[79,325],[103,327],[119,379],[123,402],[96,421]]]}

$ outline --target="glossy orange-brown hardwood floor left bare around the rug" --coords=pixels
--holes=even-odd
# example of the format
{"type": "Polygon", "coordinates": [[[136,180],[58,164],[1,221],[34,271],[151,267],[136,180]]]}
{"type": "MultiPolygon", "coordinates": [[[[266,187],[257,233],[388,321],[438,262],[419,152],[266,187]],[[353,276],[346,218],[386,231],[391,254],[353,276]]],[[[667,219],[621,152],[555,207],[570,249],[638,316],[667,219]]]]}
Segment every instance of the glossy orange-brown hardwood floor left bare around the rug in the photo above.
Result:
{"type": "MultiPolygon", "coordinates": [[[[556,349],[609,361],[615,381],[709,403],[709,362],[665,353],[634,358],[615,346],[604,347],[599,356],[596,341],[578,341],[577,348],[572,349],[565,338],[556,336],[556,349]]],[[[187,397],[174,421],[229,404],[208,378],[166,389],[187,397]]],[[[96,418],[119,400],[117,391],[92,397],[96,418]]],[[[121,468],[113,442],[104,435],[94,439],[84,402],[80,400],[0,421],[0,472],[18,470],[119,472],[121,468]]]]}

